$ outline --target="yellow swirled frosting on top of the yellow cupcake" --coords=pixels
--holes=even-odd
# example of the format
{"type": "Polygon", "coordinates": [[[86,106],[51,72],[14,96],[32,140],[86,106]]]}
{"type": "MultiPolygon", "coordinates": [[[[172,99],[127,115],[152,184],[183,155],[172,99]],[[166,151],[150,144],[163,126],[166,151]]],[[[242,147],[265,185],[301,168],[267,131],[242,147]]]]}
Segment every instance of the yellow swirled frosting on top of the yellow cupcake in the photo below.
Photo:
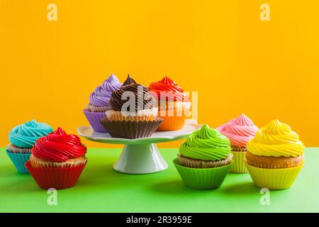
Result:
{"type": "Polygon", "coordinates": [[[305,145],[289,125],[273,120],[257,131],[248,142],[247,150],[259,156],[297,157],[303,154],[305,145]]]}

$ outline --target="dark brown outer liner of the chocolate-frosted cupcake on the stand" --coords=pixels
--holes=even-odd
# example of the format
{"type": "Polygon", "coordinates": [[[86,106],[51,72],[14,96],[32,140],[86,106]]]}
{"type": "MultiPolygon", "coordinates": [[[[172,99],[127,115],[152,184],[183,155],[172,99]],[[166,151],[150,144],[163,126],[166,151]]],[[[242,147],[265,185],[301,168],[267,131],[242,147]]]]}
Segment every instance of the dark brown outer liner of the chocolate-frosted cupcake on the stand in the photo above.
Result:
{"type": "Polygon", "coordinates": [[[114,138],[145,138],[156,131],[162,123],[162,118],[154,121],[109,121],[107,117],[101,119],[101,124],[114,138]]]}

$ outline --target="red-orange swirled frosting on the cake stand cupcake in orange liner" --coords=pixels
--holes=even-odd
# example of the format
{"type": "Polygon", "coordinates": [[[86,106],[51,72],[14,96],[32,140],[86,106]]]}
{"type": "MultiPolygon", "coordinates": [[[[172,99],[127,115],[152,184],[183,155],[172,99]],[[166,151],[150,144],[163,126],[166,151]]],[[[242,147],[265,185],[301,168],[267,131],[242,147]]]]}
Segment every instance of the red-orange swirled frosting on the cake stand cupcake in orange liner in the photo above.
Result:
{"type": "Polygon", "coordinates": [[[189,96],[184,93],[183,89],[178,86],[177,82],[169,79],[169,77],[164,77],[160,81],[152,82],[150,84],[150,91],[157,94],[157,99],[189,101],[189,96]]]}

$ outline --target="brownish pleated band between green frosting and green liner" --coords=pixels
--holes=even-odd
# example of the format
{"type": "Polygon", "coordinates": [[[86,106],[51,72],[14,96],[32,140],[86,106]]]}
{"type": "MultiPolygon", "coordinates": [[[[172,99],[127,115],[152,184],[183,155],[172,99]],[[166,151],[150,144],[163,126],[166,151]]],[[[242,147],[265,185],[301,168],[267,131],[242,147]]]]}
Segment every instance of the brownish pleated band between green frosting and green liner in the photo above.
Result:
{"type": "Polygon", "coordinates": [[[190,157],[184,157],[183,155],[177,155],[179,160],[179,165],[189,168],[215,168],[229,165],[232,162],[233,155],[228,155],[224,160],[219,161],[205,161],[205,160],[196,160],[190,157]]]}

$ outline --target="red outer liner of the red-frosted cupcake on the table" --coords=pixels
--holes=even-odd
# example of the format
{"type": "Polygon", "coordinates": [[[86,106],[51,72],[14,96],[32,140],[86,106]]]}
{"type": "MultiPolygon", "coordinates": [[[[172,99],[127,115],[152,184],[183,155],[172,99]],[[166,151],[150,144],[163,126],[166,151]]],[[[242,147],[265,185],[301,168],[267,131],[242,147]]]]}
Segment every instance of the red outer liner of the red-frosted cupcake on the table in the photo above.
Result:
{"type": "Polygon", "coordinates": [[[67,189],[77,184],[77,180],[84,169],[83,165],[76,167],[39,167],[33,168],[30,162],[26,162],[26,167],[40,188],[43,189],[67,189]]]}

